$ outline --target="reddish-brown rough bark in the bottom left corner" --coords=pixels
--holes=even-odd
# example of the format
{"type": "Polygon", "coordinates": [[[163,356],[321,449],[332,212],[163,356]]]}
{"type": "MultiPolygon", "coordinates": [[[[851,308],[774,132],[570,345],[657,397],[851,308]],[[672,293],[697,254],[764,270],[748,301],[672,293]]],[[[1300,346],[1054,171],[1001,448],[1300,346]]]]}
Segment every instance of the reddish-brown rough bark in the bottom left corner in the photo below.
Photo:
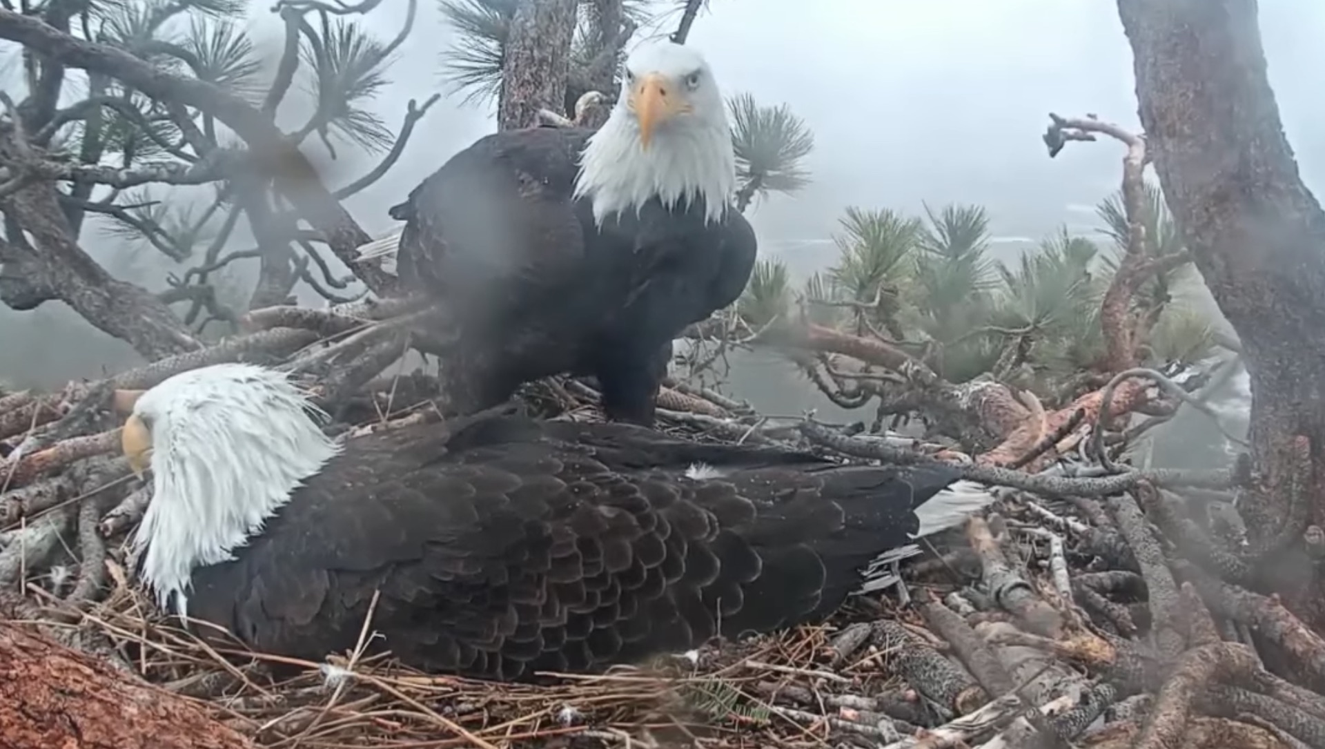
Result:
{"type": "Polygon", "coordinates": [[[193,703],[0,622],[0,746],[252,749],[193,703]]]}

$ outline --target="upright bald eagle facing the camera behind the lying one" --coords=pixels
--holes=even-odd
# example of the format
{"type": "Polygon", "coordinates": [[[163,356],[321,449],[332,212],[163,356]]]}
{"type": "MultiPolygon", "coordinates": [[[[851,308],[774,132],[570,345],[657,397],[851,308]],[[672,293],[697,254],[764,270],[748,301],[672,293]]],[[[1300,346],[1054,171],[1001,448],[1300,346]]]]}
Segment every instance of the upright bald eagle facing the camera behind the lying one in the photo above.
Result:
{"type": "Polygon", "coordinates": [[[462,323],[448,358],[462,410],[570,371],[598,378],[610,419],[651,426],[672,339],[750,280],[735,186],[718,82],[672,42],[627,58],[598,131],[509,130],[452,156],[391,215],[401,281],[462,323]]]}

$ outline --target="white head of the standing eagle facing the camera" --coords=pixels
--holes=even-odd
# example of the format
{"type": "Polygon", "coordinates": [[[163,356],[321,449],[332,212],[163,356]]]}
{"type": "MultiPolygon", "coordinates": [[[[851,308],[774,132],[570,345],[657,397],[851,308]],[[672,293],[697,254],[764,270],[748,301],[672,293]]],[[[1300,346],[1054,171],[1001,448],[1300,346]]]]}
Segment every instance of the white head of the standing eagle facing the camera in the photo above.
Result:
{"type": "Polygon", "coordinates": [[[737,160],[718,81],[693,46],[670,41],[639,46],[625,60],[611,117],[588,139],[575,196],[590,196],[599,224],[612,213],[705,204],[722,219],[737,188],[737,160]]]}

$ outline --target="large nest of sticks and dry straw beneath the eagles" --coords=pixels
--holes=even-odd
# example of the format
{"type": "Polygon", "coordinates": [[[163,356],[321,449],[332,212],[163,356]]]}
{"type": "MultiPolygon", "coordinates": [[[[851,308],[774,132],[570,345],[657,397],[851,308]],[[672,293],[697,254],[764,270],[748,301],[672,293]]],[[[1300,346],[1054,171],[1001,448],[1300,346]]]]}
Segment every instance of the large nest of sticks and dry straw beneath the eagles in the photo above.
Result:
{"type": "MultiPolygon", "coordinates": [[[[1325,640],[1255,593],[1288,544],[1249,545],[1236,518],[1210,510],[1228,504],[1246,472],[1142,472],[1085,459],[1090,441],[1109,441],[1102,433],[1071,440],[1079,455],[1061,460],[1064,440],[1108,414],[1108,392],[1086,419],[1081,408],[1057,422],[1039,411],[1037,439],[991,465],[954,440],[766,418],[669,383],[661,428],[841,460],[955,461],[1006,487],[986,517],[908,562],[896,590],[855,598],[825,623],[518,685],[423,675],[362,648],[302,663],[203,644],[163,619],[126,573],[126,538],[148,497],[111,457],[113,391],[246,359],[297,373],[335,430],[437,419],[436,378],[380,376],[408,339],[394,322],[399,310],[384,308],[260,310],[248,334],[212,349],[57,394],[0,398],[7,615],[272,748],[1325,746],[1316,691],[1325,640]],[[277,681],[277,663],[303,672],[277,681]]],[[[576,419],[596,418],[595,396],[572,379],[519,394],[538,415],[576,419]]],[[[1295,533],[1308,549],[1325,545],[1318,528],[1295,533]]]]}

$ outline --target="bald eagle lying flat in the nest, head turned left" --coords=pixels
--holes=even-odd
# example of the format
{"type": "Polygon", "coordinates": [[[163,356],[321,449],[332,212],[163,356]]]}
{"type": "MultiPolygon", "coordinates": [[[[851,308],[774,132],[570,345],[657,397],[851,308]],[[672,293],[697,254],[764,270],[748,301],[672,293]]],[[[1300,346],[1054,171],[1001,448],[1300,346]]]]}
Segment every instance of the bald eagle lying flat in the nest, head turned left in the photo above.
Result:
{"type": "Polygon", "coordinates": [[[123,451],[163,608],[307,660],[380,647],[519,679],[823,616],[991,501],[945,465],[840,465],[633,424],[474,415],[343,444],[284,374],[217,365],[142,394],[123,451]]]}

